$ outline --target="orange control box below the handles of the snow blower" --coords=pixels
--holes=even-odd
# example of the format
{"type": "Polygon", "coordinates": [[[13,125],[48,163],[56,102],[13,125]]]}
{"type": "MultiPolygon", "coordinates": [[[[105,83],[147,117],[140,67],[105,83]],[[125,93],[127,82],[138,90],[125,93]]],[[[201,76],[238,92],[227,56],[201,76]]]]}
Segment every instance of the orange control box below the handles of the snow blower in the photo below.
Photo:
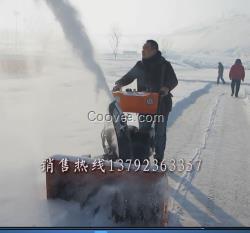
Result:
{"type": "Polygon", "coordinates": [[[113,96],[123,112],[156,114],[159,94],[155,92],[116,91],[113,96]]]}

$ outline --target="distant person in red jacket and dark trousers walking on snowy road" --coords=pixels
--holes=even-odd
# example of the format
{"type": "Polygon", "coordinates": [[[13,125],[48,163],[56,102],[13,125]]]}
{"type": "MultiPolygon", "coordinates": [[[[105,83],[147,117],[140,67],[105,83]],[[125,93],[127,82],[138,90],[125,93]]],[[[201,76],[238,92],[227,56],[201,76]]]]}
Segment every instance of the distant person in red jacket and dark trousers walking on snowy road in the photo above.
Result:
{"type": "Polygon", "coordinates": [[[231,96],[233,96],[235,93],[235,97],[238,97],[241,80],[244,82],[244,78],[245,78],[245,69],[244,69],[244,66],[242,65],[240,59],[236,59],[235,64],[231,67],[230,72],[229,72],[229,78],[230,78],[230,80],[232,80],[232,82],[231,82],[231,88],[232,88],[231,96]],[[234,92],[235,86],[236,86],[236,90],[234,92]]]}

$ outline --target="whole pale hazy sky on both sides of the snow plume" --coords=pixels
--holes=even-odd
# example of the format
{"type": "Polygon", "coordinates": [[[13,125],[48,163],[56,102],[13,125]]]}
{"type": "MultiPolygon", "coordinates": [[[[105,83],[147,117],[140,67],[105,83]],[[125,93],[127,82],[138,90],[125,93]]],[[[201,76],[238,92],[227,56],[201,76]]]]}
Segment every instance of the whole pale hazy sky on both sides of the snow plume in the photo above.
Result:
{"type": "MultiPolygon", "coordinates": [[[[250,15],[249,0],[70,0],[93,38],[116,26],[123,36],[166,35],[235,14],[250,15]]],[[[0,30],[48,31],[54,22],[43,0],[0,0],[0,30]]],[[[56,24],[55,24],[56,25],[56,24]]],[[[58,25],[57,25],[58,27],[58,25]]]]}

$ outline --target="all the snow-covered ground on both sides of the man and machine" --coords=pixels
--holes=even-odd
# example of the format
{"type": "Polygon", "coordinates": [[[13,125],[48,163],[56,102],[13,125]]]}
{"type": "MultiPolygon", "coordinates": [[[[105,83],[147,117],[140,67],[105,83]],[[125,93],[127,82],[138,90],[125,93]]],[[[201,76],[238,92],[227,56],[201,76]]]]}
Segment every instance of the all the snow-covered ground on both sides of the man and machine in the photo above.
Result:
{"type": "MultiPolygon", "coordinates": [[[[110,89],[135,62],[99,57],[110,89]]],[[[1,68],[0,226],[106,225],[88,219],[76,203],[46,200],[44,158],[102,153],[102,123],[93,126],[86,114],[104,112],[105,101],[77,59],[50,56],[41,64],[23,72],[1,68]]],[[[200,171],[169,173],[169,225],[250,226],[249,72],[236,99],[230,96],[228,70],[227,84],[217,86],[217,70],[174,68],[179,85],[165,159],[202,164],[200,171]]]]}

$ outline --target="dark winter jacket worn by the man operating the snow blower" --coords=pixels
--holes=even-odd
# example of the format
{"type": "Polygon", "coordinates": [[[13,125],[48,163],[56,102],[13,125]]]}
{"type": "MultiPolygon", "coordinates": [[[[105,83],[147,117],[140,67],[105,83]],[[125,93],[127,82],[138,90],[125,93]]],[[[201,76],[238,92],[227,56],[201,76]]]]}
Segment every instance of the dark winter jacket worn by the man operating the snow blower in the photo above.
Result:
{"type": "MultiPolygon", "coordinates": [[[[142,59],[116,84],[126,86],[137,79],[137,90],[146,92],[160,92],[162,87],[174,89],[178,80],[170,62],[166,61],[158,51],[153,57],[142,59]],[[165,67],[164,67],[165,66],[165,67]]],[[[161,101],[160,114],[167,115],[172,109],[172,94],[164,96],[161,101]]]]}

